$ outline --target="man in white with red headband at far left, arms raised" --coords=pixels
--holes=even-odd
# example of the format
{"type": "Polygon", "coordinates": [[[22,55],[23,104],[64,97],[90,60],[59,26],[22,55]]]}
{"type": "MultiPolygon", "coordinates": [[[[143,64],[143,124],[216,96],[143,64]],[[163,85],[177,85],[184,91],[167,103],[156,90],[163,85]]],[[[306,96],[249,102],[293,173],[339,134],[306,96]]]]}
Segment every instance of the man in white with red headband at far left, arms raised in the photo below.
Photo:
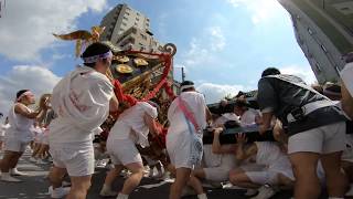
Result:
{"type": "Polygon", "coordinates": [[[9,124],[4,143],[4,156],[1,160],[1,180],[3,181],[21,181],[10,175],[23,175],[15,169],[15,166],[33,139],[31,126],[34,119],[40,119],[46,113],[44,101],[40,102],[38,111],[32,111],[29,105],[35,103],[34,95],[29,90],[21,90],[17,93],[17,101],[9,112],[9,124]]]}

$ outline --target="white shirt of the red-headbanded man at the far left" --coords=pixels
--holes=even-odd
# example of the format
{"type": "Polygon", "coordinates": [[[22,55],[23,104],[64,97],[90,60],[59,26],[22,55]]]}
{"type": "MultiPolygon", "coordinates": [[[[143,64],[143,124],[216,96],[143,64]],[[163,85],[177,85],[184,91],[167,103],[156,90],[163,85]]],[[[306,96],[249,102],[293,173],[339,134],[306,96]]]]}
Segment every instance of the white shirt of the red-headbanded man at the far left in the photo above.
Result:
{"type": "MultiPolygon", "coordinates": [[[[30,113],[32,112],[30,108],[28,108],[28,111],[30,113]]],[[[10,128],[8,128],[7,130],[7,134],[6,134],[7,138],[18,139],[24,143],[33,140],[33,134],[31,132],[33,119],[14,113],[14,105],[10,108],[8,117],[9,117],[10,128]]]]}

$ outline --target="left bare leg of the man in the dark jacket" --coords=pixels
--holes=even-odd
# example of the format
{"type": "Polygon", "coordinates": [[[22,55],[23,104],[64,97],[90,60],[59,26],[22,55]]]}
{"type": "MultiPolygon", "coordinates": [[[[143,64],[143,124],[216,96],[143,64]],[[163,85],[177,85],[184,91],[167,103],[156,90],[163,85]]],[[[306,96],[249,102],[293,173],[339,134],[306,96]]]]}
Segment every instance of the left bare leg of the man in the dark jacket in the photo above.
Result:
{"type": "Polygon", "coordinates": [[[319,157],[320,155],[315,153],[289,155],[296,177],[295,198],[312,199],[320,197],[321,187],[317,176],[319,157]]]}

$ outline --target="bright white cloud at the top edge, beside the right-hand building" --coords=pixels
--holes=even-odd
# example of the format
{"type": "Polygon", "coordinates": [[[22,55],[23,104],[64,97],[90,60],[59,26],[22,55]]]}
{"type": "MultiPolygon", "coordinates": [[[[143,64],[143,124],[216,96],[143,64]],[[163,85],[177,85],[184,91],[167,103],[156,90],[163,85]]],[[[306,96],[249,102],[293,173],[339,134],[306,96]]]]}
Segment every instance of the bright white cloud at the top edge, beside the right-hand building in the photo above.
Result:
{"type": "Polygon", "coordinates": [[[281,6],[277,0],[226,0],[235,8],[245,7],[252,13],[254,24],[270,21],[278,17],[281,6]]]}

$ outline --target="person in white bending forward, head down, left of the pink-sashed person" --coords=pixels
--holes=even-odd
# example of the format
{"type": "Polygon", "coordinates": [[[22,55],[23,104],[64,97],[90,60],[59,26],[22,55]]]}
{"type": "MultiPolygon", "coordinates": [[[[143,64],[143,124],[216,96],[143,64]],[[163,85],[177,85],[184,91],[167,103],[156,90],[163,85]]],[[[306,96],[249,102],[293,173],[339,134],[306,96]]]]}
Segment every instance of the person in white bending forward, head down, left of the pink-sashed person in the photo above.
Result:
{"type": "Polygon", "coordinates": [[[127,199],[140,184],[143,176],[143,164],[136,145],[149,146],[148,134],[157,135],[154,126],[157,116],[157,108],[147,102],[138,102],[119,115],[107,140],[107,151],[115,168],[108,172],[100,196],[117,195],[111,191],[111,184],[125,167],[132,175],[125,181],[117,199],[127,199]]]}

